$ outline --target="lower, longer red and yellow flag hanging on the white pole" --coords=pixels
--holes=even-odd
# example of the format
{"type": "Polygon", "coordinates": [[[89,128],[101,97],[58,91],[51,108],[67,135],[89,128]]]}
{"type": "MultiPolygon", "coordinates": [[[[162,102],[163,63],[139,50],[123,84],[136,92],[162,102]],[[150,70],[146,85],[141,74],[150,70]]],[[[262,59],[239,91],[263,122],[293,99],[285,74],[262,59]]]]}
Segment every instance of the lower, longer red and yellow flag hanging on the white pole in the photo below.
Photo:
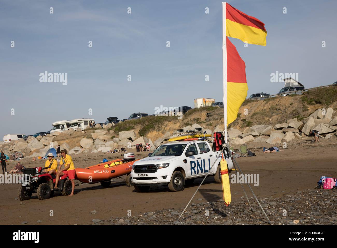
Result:
{"type": "Polygon", "coordinates": [[[226,37],[227,48],[227,126],[235,121],[247,97],[246,64],[236,47],[226,37]]]}

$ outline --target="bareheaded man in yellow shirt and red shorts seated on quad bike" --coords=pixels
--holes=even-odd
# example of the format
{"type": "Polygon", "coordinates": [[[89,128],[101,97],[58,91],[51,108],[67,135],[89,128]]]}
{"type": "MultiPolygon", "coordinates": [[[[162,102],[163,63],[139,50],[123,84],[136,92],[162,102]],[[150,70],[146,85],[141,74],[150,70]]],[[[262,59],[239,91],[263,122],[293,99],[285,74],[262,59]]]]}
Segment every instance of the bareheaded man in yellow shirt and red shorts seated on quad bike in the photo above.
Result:
{"type": "MultiPolygon", "coordinates": [[[[68,176],[70,182],[71,182],[71,194],[74,195],[74,189],[75,189],[75,166],[74,163],[72,162],[72,158],[67,155],[67,150],[63,149],[61,150],[61,162],[59,165],[59,171],[56,173],[56,181],[55,181],[55,187],[54,189],[57,188],[57,184],[59,182],[60,176],[66,175],[68,176]],[[61,166],[64,164],[64,169],[61,170],[61,166]]],[[[69,195],[69,196],[70,196],[69,195]]]]}

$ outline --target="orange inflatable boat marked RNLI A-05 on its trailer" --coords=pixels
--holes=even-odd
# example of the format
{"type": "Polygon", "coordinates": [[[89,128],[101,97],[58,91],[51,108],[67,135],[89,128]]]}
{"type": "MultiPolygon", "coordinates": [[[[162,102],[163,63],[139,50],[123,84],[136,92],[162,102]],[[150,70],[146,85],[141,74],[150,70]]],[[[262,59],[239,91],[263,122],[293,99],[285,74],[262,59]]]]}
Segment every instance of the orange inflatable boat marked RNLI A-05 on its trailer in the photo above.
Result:
{"type": "Polygon", "coordinates": [[[126,153],[123,159],[115,159],[86,168],[75,168],[75,178],[82,183],[94,184],[100,182],[103,187],[108,187],[113,178],[127,175],[126,185],[133,186],[130,173],[135,161],[133,153],[126,153]]]}

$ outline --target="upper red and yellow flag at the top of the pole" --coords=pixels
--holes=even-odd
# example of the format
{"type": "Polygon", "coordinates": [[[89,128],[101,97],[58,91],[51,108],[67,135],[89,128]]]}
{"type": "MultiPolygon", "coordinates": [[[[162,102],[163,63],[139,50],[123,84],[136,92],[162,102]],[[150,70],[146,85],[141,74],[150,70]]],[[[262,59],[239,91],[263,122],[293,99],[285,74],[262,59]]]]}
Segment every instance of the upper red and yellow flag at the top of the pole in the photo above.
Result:
{"type": "Polygon", "coordinates": [[[265,24],[226,3],[226,36],[266,46],[265,24]]]}

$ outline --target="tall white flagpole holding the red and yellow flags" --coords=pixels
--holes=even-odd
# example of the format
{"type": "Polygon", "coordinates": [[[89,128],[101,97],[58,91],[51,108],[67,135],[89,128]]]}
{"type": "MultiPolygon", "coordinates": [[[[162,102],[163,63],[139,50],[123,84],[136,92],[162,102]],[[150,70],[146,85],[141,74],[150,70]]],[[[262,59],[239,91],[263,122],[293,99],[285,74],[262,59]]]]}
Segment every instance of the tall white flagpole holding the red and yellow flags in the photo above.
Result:
{"type": "Polygon", "coordinates": [[[223,119],[225,143],[227,143],[227,46],[226,46],[226,2],[222,2],[222,71],[223,71],[223,119]]]}

